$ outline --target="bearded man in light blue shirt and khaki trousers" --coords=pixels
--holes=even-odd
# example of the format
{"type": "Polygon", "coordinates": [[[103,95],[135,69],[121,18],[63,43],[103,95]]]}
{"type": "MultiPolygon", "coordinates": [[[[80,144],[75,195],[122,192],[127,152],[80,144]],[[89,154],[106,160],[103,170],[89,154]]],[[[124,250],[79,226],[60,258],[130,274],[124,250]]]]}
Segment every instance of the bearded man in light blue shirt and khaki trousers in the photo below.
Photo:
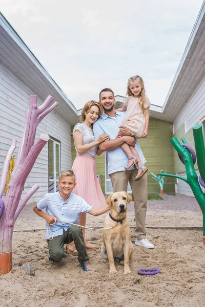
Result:
{"type": "Polygon", "coordinates": [[[116,112],[114,93],[111,89],[106,88],[99,93],[99,101],[104,108],[104,114],[93,124],[94,136],[97,139],[99,135],[106,133],[110,140],[99,144],[99,148],[106,151],[108,160],[108,173],[111,179],[114,192],[127,191],[128,182],[131,185],[134,207],[135,207],[135,245],[146,248],[154,248],[146,237],[145,219],[147,212],[147,174],[139,181],[135,182],[138,170],[133,166],[126,170],[128,157],[121,145],[127,143],[135,147],[139,153],[142,164],[146,162],[141,151],[139,143],[134,139],[134,134],[129,128],[123,127],[119,130],[120,123],[125,117],[125,112],[116,112]],[[116,138],[116,136],[121,136],[116,138]]]}

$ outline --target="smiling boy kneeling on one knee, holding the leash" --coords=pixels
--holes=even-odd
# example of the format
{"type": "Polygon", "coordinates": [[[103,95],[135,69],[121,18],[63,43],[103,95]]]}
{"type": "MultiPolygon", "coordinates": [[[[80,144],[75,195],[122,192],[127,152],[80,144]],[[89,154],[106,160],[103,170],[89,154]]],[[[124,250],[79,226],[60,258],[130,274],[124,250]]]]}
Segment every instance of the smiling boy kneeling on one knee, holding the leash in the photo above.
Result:
{"type": "Polygon", "coordinates": [[[85,273],[91,271],[89,257],[86,253],[85,242],[80,227],[73,224],[79,223],[79,214],[90,213],[94,216],[107,212],[109,206],[94,209],[81,197],[72,193],[75,175],[72,170],[64,170],[60,173],[58,186],[59,192],[46,194],[33,211],[46,220],[46,240],[49,248],[49,260],[60,261],[64,257],[64,244],[74,240],[78,251],[78,261],[85,273]],[[46,208],[46,213],[42,209],[46,208]],[[56,222],[55,222],[56,221],[56,222]],[[69,222],[68,222],[69,221],[69,222]],[[55,223],[54,225],[51,225],[55,223]],[[47,233],[48,225],[52,233],[47,233]],[[49,239],[49,237],[50,239],[49,239]],[[53,238],[51,239],[51,237],[53,238]]]}

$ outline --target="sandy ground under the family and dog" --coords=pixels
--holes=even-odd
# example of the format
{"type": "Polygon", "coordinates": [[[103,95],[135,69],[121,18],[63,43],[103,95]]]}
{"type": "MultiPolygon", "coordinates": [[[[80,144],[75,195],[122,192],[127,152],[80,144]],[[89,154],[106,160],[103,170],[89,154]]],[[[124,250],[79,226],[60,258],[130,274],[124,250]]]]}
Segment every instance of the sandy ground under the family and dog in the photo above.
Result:
{"type": "MultiPolygon", "coordinates": [[[[164,195],[163,201],[149,201],[147,213],[148,238],[155,249],[135,246],[130,261],[132,273],[109,274],[102,262],[100,249],[89,251],[93,272],[84,274],[77,258],[66,253],[60,264],[47,260],[48,248],[45,222],[27,205],[19,215],[13,233],[13,269],[0,275],[1,307],[135,307],[135,306],[205,306],[205,245],[202,230],[154,229],[150,226],[202,227],[202,213],[195,199],[164,195]],[[35,276],[20,271],[19,262],[31,262],[35,276]],[[141,276],[140,268],[158,268],[160,274],[141,276]]],[[[88,226],[103,226],[105,216],[88,214],[88,226]]],[[[134,206],[129,206],[130,225],[134,226],[134,206]]],[[[100,247],[101,231],[88,230],[87,238],[100,247]]],[[[134,240],[132,228],[132,239],[134,240]]]]}

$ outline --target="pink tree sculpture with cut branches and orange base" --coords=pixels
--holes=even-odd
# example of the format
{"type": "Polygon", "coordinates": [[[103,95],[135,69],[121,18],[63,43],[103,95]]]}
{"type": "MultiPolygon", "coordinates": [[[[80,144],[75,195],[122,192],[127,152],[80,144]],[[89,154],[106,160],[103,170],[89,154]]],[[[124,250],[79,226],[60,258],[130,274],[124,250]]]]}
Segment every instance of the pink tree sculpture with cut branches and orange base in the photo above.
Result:
{"type": "Polygon", "coordinates": [[[2,196],[6,185],[9,161],[16,147],[15,139],[11,142],[11,147],[4,162],[0,180],[0,200],[3,208],[3,214],[0,216],[0,274],[7,274],[12,269],[12,234],[14,224],[20,211],[22,211],[28,200],[39,188],[35,184],[24,198],[20,200],[26,179],[40,151],[49,140],[48,135],[42,134],[34,144],[38,124],[58,105],[58,102],[55,102],[47,109],[52,100],[53,97],[48,96],[44,103],[38,107],[37,96],[30,96],[30,106],[29,110],[26,111],[26,126],[22,142],[20,143],[16,165],[11,174],[8,191],[3,202],[2,196]]]}

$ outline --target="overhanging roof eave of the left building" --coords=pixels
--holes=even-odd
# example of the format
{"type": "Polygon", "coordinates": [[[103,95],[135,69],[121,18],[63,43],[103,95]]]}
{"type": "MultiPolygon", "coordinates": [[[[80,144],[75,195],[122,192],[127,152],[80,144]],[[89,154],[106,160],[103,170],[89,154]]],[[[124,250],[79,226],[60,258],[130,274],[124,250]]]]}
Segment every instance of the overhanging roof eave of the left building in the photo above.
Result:
{"type": "Polygon", "coordinates": [[[0,62],[28,86],[33,91],[32,94],[38,95],[42,100],[48,95],[53,96],[54,101],[59,102],[56,112],[71,125],[79,121],[79,111],[1,13],[0,62]]]}

